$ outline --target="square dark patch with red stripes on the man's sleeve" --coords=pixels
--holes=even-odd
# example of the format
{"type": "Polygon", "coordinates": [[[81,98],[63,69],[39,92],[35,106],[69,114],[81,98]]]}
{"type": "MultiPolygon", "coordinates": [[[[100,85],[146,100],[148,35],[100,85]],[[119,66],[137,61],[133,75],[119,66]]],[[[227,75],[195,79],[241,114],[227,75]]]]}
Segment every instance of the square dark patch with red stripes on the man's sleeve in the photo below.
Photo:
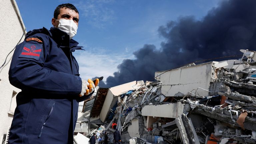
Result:
{"type": "Polygon", "coordinates": [[[42,44],[25,43],[19,57],[39,60],[42,53],[42,44]]]}

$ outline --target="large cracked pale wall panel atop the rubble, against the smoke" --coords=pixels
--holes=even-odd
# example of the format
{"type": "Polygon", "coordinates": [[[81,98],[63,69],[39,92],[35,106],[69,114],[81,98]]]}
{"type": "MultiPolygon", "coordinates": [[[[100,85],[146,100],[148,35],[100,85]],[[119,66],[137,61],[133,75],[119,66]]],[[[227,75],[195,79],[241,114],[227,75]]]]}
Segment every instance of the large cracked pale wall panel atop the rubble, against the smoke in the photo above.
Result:
{"type": "MultiPolygon", "coordinates": [[[[156,79],[162,82],[161,92],[163,95],[167,97],[183,96],[198,87],[209,90],[210,82],[214,79],[214,70],[214,63],[209,62],[173,69],[167,72],[155,72],[155,77],[162,74],[156,79]]],[[[197,92],[200,96],[208,96],[209,94],[209,92],[202,89],[199,89],[197,92]]]]}

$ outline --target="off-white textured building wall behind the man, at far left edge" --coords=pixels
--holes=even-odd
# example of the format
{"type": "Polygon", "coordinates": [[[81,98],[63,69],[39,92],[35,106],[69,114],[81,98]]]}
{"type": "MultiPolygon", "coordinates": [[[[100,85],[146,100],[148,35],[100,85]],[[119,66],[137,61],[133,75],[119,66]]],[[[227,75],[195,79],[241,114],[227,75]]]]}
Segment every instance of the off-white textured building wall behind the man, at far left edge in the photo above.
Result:
{"type": "MultiPolygon", "coordinates": [[[[4,63],[8,53],[16,46],[23,36],[24,24],[17,4],[13,0],[0,1],[0,66],[4,63]]],[[[25,37],[22,38],[22,41],[25,37]]],[[[13,87],[9,83],[8,71],[13,52],[7,57],[6,63],[0,69],[0,136],[6,134],[11,126],[13,114],[8,114],[10,110],[13,91],[20,92],[20,89],[13,87]]],[[[11,111],[16,107],[16,95],[13,98],[11,111]]]]}

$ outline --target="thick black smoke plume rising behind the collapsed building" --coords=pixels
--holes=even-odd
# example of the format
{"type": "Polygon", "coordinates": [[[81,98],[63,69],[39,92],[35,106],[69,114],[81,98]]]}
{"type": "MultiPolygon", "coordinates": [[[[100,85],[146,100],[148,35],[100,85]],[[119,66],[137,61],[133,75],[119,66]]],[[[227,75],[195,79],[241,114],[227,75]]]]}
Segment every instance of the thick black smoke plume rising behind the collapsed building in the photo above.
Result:
{"type": "Polygon", "coordinates": [[[106,79],[113,87],[134,80],[150,80],[156,71],[168,70],[189,62],[241,55],[239,49],[256,48],[256,0],[229,0],[211,9],[201,20],[180,17],[160,26],[166,39],[160,50],[145,44],[134,52],[135,59],[125,59],[114,76],[106,79]]]}

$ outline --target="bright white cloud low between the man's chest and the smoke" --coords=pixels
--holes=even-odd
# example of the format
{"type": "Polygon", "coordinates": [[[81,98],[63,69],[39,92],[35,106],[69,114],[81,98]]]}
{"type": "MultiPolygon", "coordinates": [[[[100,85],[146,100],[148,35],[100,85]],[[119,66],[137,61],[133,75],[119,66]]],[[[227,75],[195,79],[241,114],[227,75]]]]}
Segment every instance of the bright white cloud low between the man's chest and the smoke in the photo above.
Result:
{"type": "Polygon", "coordinates": [[[82,79],[103,76],[104,81],[118,71],[117,66],[124,59],[133,58],[133,55],[117,54],[100,48],[90,51],[77,50],[74,56],[79,64],[79,73],[82,79]]]}

